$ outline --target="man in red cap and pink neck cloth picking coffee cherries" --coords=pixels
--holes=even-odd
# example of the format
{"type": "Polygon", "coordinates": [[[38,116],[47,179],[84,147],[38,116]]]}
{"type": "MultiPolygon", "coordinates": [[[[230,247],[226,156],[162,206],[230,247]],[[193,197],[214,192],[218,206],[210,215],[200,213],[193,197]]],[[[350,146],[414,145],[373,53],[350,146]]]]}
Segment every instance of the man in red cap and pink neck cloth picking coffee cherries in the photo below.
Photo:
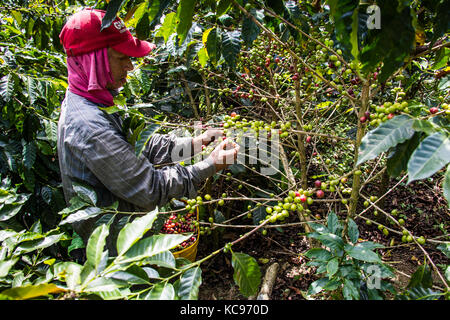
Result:
{"type": "MultiPolygon", "coordinates": [[[[154,134],[140,157],[122,132],[122,119],[99,107],[113,105],[113,96],[126,83],[133,70],[130,57],[148,55],[154,44],[134,38],[120,18],[101,30],[105,11],[84,9],[74,14],[61,31],[60,39],[67,53],[69,87],[58,122],[58,157],[66,202],[75,195],[73,183],[94,188],[98,206],[118,201],[119,211],[152,210],[171,198],[193,198],[200,184],[227,167],[239,151],[236,144],[222,142],[211,155],[191,166],[155,168],[172,163],[176,150],[201,150],[220,130],[207,130],[195,138],[177,138],[154,134]],[[227,149],[228,148],[228,149],[227,149]],[[226,159],[228,159],[226,161],[226,159]],[[231,159],[231,161],[230,161],[231,159]]],[[[190,152],[189,152],[190,151],[190,152]]],[[[87,242],[98,218],[73,224],[87,242]]],[[[123,222],[123,221],[122,221],[123,222]]],[[[115,238],[123,223],[112,225],[107,245],[115,252],[115,238]]]]}

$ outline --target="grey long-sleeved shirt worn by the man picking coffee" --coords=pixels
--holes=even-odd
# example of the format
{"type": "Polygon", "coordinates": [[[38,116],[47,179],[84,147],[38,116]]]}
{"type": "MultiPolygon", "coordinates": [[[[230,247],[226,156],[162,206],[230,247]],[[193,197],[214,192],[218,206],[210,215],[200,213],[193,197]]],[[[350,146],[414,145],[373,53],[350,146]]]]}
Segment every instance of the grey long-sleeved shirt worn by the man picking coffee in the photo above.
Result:
{"type": "MultiPolygon", "coordinates": [[[[75,195],[72,182],[77,181],[94,188],[98,206],[118,201],[120,211],[153,210],[171,198],[195,197],[201,182],[215,173],[210,158],[186,167],[155,168],[155,164],[174,162],[174,148],[188,150],[185,158],[189,159],[192,138],[153,134],[138,158],[117,113],[107,114],[70,91],[61,107],[57,148],[67,203],[75,195]]],[[[87,241],[96,220],[76,222],[73,227],[87,241]]]]}

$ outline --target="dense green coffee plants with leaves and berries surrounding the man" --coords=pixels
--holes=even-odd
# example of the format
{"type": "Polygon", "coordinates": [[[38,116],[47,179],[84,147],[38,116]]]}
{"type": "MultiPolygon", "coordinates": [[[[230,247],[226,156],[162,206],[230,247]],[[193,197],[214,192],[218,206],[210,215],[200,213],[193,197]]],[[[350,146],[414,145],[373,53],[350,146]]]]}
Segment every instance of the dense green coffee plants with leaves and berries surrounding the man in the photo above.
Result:
{"type": "Polygon", "coordinates": [[[296,288],[301,299],[448,299],[448,1],[2,0],[0,8],[1,299],[198,299],[219,256],[239,297],[255,297],[264,259],[246,245],[288,233],[286,246],[303,243],[290,254],[312,277],[296,288]],[[136,156],[155,133],[207,128],[224,135],[179,164],[226,139],[241,146],[237,163],[195,198],[121,212],[75,184],[65,202],[56,134],[68,84],[58,36],[82,7],[106,10],[103,27],[120,16],[156,44],[103,108],[123,118],[136,156]],[[93,217],[83,243],[71,223],[93,217]],[[106,249],[112,228],[117,252],[106,249]],[[196,259],[177,256],[196,243],[196,259]],[[402,285],[388,258],[405,247],[402,259],[418,266],[402,285]]]}

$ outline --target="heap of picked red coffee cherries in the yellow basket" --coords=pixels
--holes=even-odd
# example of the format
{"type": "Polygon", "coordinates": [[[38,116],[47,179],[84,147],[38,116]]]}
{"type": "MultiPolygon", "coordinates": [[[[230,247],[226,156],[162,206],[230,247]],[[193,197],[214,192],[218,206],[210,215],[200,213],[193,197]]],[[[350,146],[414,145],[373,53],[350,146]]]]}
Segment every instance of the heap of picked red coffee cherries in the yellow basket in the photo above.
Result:
{"type": "Polygon", "coordinates": [[[183,241],[174,248],[174,250],[177,251],[187,248],[197,241],[198,227],[199,223],[197,221],[197,216],[194,210],[190,210],[186,214],[171,214],[164,222],[161,232],[167,234],[193,233],[189,239],[183,241]]]}

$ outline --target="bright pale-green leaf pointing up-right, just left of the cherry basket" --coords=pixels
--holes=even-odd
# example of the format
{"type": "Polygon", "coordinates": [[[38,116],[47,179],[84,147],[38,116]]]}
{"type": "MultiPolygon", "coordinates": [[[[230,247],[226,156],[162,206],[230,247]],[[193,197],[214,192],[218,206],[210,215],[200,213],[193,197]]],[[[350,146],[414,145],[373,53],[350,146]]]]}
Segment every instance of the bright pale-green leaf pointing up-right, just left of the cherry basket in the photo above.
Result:
{"type": "Polygon", "coordinates": [[[117,237],[117,253],[119,256],[123,255],[131,248],[144,234],[150,230],[158,215],[158,208],[147,213],[141,218],[134,219],[133,222],[128,223],[122,230],[120,230],[117,237]]]}

